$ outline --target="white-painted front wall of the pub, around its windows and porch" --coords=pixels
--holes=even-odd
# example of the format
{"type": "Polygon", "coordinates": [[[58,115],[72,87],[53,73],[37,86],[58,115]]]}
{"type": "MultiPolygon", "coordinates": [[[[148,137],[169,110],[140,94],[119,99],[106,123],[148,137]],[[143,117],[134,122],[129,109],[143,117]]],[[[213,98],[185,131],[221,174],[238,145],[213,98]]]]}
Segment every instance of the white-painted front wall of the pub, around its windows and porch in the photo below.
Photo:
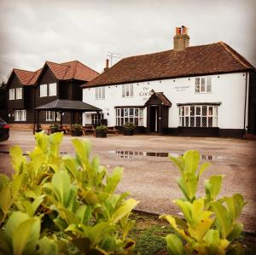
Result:
{"type": "MultiPolygon", "coordinates": [[[[169,127],[178,126],[177,103],[221,102],[218,107],[218,127],[221,129],[243,129],[246,73],[212,75],[212,93],[195,93],[195,77],[163,79],[133,83],[134,96],[122,97],[122,85],[105,87],[105,99],[96,100],[95,88],[83,90],[83,101],[99,107],[108,119],[108,125],[115,125],[116,106],[143,106],[149,98],[149,91],[164,92],[172,102],[169,108],[169,127]]],[[[144,109],[144,126],[147,122],[144,109]]],[[[90,113],[84,113],[83,124],[90,123],[90,113]]]]}

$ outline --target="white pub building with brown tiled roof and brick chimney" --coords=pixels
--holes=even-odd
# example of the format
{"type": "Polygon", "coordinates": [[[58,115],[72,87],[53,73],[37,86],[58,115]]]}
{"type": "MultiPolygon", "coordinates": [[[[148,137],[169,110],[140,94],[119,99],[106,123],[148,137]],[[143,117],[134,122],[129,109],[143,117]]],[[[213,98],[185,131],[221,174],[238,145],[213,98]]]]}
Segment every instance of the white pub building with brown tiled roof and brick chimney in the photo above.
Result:
{"type": "MultiPolygon", "coordinates": [[[[177,27],[174,49],[124,58],[84,84],[83,101],[109,126],[177,135],[256,133],[255,68],[226,43],[189,47],[177,27]]],[[[84,113],[83,124],[97,115],[84,113]]]]}

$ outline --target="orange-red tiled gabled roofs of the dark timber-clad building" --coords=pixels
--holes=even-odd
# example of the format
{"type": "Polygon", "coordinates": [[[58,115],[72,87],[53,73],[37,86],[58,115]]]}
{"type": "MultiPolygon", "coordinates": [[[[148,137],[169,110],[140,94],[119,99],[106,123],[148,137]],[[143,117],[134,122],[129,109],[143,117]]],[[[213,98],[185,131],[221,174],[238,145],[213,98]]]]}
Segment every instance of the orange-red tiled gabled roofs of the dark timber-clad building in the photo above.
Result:
{"type": "MultiPolygon", "coordinates": [[[[99,75],[98,72],[85,66],[79,61],[69,61],[61,64],[46,61],[45,65],[47,65],[55,74],[55,77],[60,80],[79,79],[87,82],[99,75]]],[[[43,68],[40,68],[35,72],[20,69],[14,69],[13,72],[15,72],[17,77],[20,79],[20,83],[22,85],[34,85],[43,68]]]]}

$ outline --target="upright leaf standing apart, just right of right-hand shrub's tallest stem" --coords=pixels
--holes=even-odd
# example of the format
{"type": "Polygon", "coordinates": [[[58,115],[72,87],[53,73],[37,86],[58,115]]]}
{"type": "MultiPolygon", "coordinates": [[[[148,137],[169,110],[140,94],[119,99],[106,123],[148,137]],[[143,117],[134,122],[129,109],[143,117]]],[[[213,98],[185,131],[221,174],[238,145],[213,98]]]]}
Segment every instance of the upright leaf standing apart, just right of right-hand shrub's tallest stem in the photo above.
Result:
{"type": "Polygon", "coordinates": [[[209,180],[205,181],[205,188],[208,201],[213,201],[218,196],[223,177],[223,175],[212,176],[210,177],[209,180]]]}

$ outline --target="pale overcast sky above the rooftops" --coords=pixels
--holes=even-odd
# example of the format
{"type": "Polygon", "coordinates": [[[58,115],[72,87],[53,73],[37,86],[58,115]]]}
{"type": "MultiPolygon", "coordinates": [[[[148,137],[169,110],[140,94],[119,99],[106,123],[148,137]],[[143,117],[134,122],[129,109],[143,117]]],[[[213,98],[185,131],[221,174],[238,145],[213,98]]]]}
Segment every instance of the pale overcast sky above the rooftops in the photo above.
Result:
{"type": "Polygon", "coordinates": [[[44,61],[79,60],[102,72],[108,51],[172,49],[182,25],[191,46],[224,41],[256,67],[255,24],[256,0],[0,0],[0,81],[44,61]]]}

